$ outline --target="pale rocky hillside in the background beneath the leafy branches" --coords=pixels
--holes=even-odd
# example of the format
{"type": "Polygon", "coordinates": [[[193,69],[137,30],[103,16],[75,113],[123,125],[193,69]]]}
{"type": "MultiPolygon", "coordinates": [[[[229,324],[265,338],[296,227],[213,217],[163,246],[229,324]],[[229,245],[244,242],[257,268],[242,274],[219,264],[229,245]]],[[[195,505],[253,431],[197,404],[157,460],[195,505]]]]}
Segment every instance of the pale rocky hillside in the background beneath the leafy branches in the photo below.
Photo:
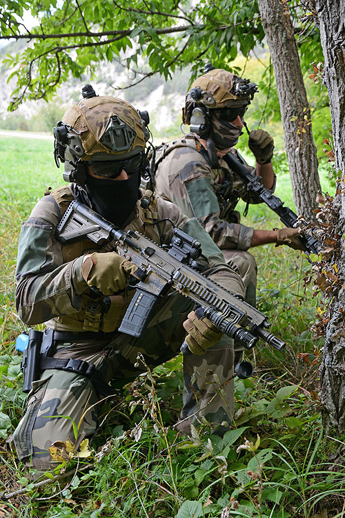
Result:
{"type": "MultiPolygon", "coordinates": [[[[0,62],[6,54],[20,52],[23,43],[14,42],[0,48],[0,62]]],[[[8,112],[10,96],[15,87],[15,78],[8,81],[11,70],[0,64],[0,128],[22,129],[26,131],[50,131],[63,112],[81,98],[81,88],[90,83],[98,95],[116,95],[126,99],[135,108],[147,110],[150,114],[150,128],[156,138],[168,138],[179,135],[181,124],[181,108],[188,90],[189,72],[177,73],[169,81],[153,76],[144,79],[140,84],[126,88],[137,78],[126,68],[114,62],[111,65],[101,63],[97,77],[83,75],[82,79],[70,78],[58,90],[51,102],[43,100],[26,102],[14,113],[8,112]],[[117,89],[120,88],[120,89],[117,89]]]]}

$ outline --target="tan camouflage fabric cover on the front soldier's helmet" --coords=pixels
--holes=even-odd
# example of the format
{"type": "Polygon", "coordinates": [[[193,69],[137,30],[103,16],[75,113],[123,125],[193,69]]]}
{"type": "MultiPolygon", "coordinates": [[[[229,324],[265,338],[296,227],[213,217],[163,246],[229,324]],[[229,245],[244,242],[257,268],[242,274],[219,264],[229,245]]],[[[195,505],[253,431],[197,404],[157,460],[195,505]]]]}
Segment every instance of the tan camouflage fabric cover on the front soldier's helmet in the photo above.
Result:
{"type": "Polygon", "coordinates": [[[63,122],[70,124],[81,138],[85,155],[83,160],[90,160],[91,155],[101,153],[100,160],[115,160],[111,157],[128,157],[142,151],[145,146],[144,129],[141,117],[131,104],[112,97],[112,95],[96,96],[90,99],[81,99],[78,104],[69,108],[63,115],[63,122]],[[124,123],[135,131],[135,139],[130,149],[126,151],[110,151],[99,139],[105,133],[110,117],[117,115],[124,123]],[[106,153],[106,155],[104,154],[106,153]],[[108,155],[108,156],[107,156],[108,155]]]}

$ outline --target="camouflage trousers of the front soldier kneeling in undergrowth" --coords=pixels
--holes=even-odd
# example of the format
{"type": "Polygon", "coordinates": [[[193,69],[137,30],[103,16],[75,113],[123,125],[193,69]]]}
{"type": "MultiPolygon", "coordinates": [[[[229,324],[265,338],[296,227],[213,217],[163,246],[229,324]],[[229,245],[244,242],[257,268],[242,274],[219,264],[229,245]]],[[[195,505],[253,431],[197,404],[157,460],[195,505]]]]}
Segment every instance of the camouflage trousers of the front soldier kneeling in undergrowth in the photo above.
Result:
{"type": "MultiPolygon", "coordinates": [[[[186,332],[182,326],[190,301],[170,294],[159,307],[142,338],[115,334],[99,342],[56,342],[49,356],[93,363],[103,381],[124,385],[146,372],[138,361],[141,353],[150,369],[179,354],[186,332]]],[[[242,356],[239,349],[238,359],[242,356]]],[[[184,356],[184,405],[181,418],[198,419],[203,414],[217,428],[233,419],[233,340],[223,336],[203,356],[184,356]],[[224,386],[222,387],[221,385],[224,386]]],[[[91,381],[76,372],[46,370],[32,383],[26,412],[14,432],[19,458],[37,470],[54,467],[49,448],[55,441],[76,442],[92,438],[97,429],[99,401],[103,396],[91,381]],[[77,426],[75,441],[73,423],[77,426]]]]}

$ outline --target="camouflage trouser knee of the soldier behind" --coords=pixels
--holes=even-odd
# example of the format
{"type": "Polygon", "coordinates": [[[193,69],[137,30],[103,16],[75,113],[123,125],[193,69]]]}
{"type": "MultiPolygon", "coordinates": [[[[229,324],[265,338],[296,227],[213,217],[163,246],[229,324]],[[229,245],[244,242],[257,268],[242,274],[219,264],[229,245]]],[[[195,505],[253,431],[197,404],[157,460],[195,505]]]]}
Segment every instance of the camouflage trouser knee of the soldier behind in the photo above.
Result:
{"type": "Polygon", "coordinates": [[[251,253],[244,250],[221,250],[226,263],[239,274],[246,287],[245,300],[255,307],[257,289],[257,264],[251,253]]]}

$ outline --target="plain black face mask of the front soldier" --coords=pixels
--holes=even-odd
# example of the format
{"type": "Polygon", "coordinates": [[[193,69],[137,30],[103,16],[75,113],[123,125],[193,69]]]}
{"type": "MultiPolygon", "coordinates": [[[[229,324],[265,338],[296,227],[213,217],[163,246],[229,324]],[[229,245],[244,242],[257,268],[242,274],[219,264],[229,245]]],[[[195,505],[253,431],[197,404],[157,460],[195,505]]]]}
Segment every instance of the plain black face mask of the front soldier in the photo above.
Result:
{"type": "Polygon", "coordinates": [[[92,208],[121,228],[140,198],[139,179],[138,170],[128,180],[107,180],[87,175],[86,190],[92,200],[92,208]]]}

